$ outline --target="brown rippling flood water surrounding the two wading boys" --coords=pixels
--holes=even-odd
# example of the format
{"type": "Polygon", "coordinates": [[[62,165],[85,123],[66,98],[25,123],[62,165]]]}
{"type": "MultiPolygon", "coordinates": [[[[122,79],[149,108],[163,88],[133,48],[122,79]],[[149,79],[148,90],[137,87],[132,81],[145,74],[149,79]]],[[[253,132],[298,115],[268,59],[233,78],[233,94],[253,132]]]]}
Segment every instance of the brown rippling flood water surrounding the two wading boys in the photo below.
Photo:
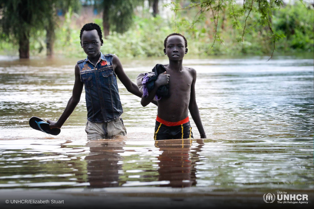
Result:
{"type": "MultiPolygon", "coordinates": [[[[313,193],[313,59],[187,59],[208,139],[155,143],[157,107],[118,81],[127,136],[87,141],[81,101],[58,136],[29,127],[57,119],[72,95],[78,59],[0,61],[0,189],[154,187],[167,192],[313,193]]],[[[122,60],[135,82],[167,60],[122,60]]],[[[136,188],[135,188],[136,189],[136,188]]]]}

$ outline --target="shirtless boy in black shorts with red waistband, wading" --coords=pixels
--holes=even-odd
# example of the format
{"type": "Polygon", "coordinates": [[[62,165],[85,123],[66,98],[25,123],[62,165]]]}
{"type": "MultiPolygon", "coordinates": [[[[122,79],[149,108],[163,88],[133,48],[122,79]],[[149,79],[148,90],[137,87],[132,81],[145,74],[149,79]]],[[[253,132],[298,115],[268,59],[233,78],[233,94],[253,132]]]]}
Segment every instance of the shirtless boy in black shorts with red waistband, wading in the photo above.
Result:
{"type": "Polygon", "coordinates": [[[153,100],[157,89],[169,84],[170,97],[162,97],[158,101],[154,140],[193,138],[188,111],[200,137],[206,138],[195,100],[196,71],[182,66],[183,57],[187,54],[187,39],[181,34],[170,34],[165,39],[164,47],[164,53],[169,58],[169,64],[164,65],[166,71],[159,74],[153,90],[149,92],[148,97],[142,96],[141,100],[142,106],[147,106],[153,100]]]}

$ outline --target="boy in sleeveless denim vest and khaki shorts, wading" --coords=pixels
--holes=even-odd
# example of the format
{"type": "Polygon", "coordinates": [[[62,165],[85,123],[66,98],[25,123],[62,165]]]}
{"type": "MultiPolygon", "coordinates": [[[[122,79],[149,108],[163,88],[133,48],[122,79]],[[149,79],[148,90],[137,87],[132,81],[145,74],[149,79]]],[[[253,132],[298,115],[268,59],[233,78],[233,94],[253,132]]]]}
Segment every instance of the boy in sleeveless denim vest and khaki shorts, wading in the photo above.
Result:
{"type": "Polygon", "coordinates": [[[122,120],[122,105],[120,102],[116,76],[127,91],[142,97],[138,87],[125,74],[119,58],[113,54],[103,55],[100,46],[103,45],[101,29],[95,23],[83,26],[80,33],[81,46],[87,54],[85,60],[75,65],[75,83],[72,97],[60,118],[55,122],[47,120],[50,128],[61,128],[77,106],[83,86],[87,107],[87,123],[85,131],[88,139],[109,138],[114,135],[126,135],[122,120]]]}

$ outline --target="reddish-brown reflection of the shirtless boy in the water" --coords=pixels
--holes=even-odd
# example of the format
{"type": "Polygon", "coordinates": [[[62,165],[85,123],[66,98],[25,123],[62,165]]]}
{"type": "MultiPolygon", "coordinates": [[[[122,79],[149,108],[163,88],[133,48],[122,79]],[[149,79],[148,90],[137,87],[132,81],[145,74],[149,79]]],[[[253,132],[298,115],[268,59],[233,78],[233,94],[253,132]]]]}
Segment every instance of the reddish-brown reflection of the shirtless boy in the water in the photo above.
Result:
{"type": "Polygon", "coordinates": [[[157,158],[159,181],[170,181],[160,186],[189,187],[196,185],[196,163],[200,161],[198,154],[203,147],[203,140],[197,140],[198,146],[191,149],[192,140],[160,140],[155,146],[162,151],[157,158]],[[191,156],[190,156],[191,154],[191,156]]]}

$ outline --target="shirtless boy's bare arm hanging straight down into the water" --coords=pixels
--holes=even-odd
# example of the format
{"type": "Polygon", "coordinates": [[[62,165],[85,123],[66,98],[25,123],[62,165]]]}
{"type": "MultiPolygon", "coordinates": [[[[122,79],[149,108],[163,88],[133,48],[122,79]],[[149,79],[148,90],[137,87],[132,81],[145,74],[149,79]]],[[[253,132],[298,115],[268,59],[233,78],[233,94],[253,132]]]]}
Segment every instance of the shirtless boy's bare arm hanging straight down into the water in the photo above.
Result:
{"type": "Polygon", "coordinates": [[[193,76],[193,81],[191,85],[191,96],[190,96],[190,103],[189,103],[189,111],[191,113],[191,116],[193,118],[193,121],[198,128],[198,132],[201,135],[201,138],[206,138],[206,133],[204,131],[202,121],[201,121],[201,116],[199,115],[198,111],[198,106],[196,104],[196,99],[195,99],[195,81],[196,81],[196,71],[195,69],[192,69],[192,76],[193,76]]]}

